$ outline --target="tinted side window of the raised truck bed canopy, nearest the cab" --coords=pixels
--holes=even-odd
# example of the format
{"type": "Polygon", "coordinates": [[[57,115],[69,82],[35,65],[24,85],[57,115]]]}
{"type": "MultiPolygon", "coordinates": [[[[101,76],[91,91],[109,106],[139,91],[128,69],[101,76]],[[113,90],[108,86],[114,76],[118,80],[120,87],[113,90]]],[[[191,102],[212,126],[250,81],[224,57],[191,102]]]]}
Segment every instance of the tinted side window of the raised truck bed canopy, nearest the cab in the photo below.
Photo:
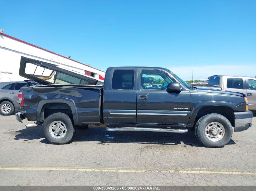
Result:
{"type": "Polygon", "coordinates": [[[87,80],[81,80],[79,78],[66,75],[60,72],[57,72],[55,84],[79,84],[79,85],[87,85],[87,80]]]}

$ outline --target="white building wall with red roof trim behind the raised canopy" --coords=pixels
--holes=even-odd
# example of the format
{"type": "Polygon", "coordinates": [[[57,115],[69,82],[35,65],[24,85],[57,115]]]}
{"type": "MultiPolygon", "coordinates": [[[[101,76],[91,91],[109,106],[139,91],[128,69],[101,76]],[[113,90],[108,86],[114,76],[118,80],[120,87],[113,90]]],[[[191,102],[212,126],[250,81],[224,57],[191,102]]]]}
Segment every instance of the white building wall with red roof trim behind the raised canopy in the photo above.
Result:
{"type": "MultiPolygon", "coordinates": [[[[105,77],[105,72],[96,68],[78,63],[74,60],[64,58],[47,50],[40,49],[25,42],[20,42],[13,37],[0,34],[0,81],[22,81],[25,78],[19,76],[19,65],[21,56],[31,59],[55,64],[61,68],[85,74],[85,70],[105,77]]],[[[100,80],[102,81],[102,80],[100,80]]]]}

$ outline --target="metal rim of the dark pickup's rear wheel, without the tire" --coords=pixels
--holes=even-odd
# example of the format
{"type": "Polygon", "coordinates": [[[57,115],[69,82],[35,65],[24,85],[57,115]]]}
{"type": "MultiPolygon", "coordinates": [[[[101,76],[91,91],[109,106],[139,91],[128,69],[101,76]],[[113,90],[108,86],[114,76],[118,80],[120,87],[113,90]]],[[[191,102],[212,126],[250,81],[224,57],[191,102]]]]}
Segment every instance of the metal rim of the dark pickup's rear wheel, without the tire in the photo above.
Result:
{"type": "Polygon", "coordinates": [[[49,132],[53,138],[63,138],[67,134],[67,127],[62,121],[54,121],[49,126],[49,132]]]}

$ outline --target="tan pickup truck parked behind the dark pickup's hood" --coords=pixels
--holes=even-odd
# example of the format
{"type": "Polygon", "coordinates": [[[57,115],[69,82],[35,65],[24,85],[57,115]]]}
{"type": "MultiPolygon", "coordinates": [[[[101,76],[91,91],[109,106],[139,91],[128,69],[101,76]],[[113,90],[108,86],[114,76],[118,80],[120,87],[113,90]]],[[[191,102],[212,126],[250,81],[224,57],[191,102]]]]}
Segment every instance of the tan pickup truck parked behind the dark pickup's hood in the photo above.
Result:
{"type": "Polygon", "coordinates": [[[207,84],[208,88],[210,86],[212,88],[245,94],[248,99],[249,110],[256,111],[256,78],[213,75],[209,78],[207,84]]]}

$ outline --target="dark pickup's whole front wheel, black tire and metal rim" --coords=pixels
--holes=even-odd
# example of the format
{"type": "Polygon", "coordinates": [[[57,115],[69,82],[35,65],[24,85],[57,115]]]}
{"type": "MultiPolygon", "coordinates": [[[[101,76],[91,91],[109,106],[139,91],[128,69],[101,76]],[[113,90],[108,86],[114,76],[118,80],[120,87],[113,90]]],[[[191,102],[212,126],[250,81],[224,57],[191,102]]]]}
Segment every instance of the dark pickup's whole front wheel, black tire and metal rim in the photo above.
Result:
{"type": "Polygon", "coordinates": [[[201,117],[195,125],[195,135],[206,147],[223,147],[231,140],[232,133],[229,120],[217,113],[201,117]]]}

